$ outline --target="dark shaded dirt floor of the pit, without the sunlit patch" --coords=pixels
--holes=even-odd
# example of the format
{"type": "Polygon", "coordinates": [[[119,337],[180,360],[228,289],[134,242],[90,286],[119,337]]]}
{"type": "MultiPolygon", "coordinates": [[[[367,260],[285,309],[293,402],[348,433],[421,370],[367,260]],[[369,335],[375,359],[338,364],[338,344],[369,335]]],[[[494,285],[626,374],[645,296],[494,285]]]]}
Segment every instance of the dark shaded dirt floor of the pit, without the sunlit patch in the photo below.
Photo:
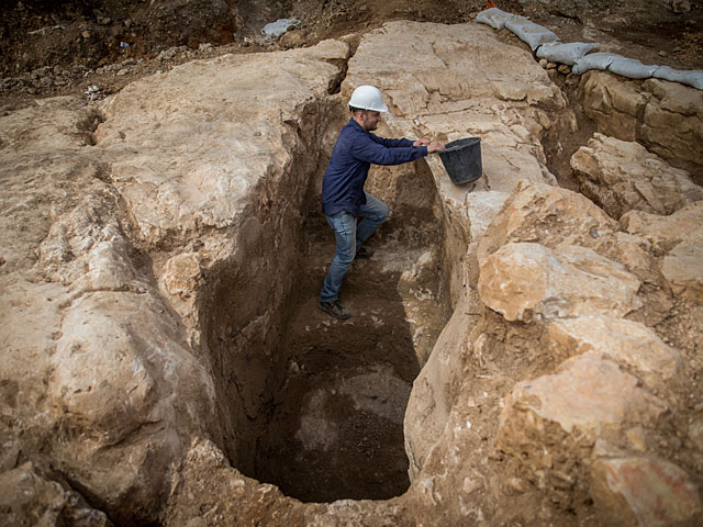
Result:
{"type": "Polygon", "coordinates": [[[279,350],[287,377],[257,444],[256,478],[303,502],[400,495],[410,484],[403,417],[420,371],[401,272],[355,261],[342,290],[353,316],[334,319],[316,306],[334,234],[320,216],[305,234],[310,250],[279,350]]]}

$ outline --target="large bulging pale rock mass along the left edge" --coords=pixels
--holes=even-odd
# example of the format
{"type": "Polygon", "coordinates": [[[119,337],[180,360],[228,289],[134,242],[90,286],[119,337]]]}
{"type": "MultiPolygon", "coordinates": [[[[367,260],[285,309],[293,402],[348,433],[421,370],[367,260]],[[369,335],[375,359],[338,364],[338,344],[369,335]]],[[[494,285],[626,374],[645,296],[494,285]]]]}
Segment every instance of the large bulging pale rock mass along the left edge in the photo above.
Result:
{"type": "MultiPolygon", "coordinates": [[[[47,101],[2,123],[8,139],[0,150],[7,170],[2,201],[20,205],[3,216],[3,255],[11,265],[0,272],[5,306],[0,312],[0,378],[15,386],[15,404],[4,415],[20,441],[8,447],[37,461],[51,457],[55,470],[100,496],[112,517],[138,520],[154,514],[163,478],[179,455],[178,434],[198,427],[187,416],[200,421],[212,392],[207,378],[199,377],[202,365],[180,369],[171,362],[169,346],[160,348],[161,358],[147,358],[154,351],[147,344],[152,337],[166,344],[180,341],[181,335],[172,318],[161,316],[161,303],[153,296],[144,302],[149,280],[137,271],[134,247],[120,226],[118,194],[102,181],[105,164],[87,147],[85,131],[94,115],[71,112],[72,104],[67,98],[47,101]],[[58,125],[43,126],[52,119],[58,125]],[[142,317],[134,321],[136,314],[142,317]],[[158,337],[159,332],[148,333],[155,327],[149,322],[167,329],[158,337]],[[124,338],[123,324],[134,323],[144,324],[147,333],[124,338]],[[125,360],[113,369],[116,357],[125,360]],[[170,381],[153,390],[154,379],[163,381],[171,367],[189,394],[170,381]],[[138,374],[146,369],[148,375],[138,374]],[[124,392],[129,381],[131,394],[124,392]],[[198,390],[187,388],[194,384],[198,390]],[[183,412],[157,417],[155,407],[183,412]],[[125,463],[130,458],[133,463],[125,463]]],[[[182,344],[175,347],[181,359],[192,361],[182,344]]],[[[216,426],[200,425],[217,437],[216,426]]]]}

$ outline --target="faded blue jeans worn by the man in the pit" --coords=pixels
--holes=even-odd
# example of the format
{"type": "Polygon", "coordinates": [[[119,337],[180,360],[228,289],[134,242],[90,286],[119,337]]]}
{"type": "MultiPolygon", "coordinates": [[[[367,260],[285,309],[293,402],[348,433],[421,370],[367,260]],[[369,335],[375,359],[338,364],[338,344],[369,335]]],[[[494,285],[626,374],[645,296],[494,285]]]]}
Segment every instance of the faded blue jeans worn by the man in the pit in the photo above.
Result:
{"type": "Polygon", "coordinates": [[[320,302],[337,300],[342,279],[349,270],[356,251],[378,227],[388,218],[388,206],[381,200],[366,193],[366,204],[359,209],[361,221],[357,225],[356,217],[348,212],[337,212],[327,217],[327,223],[334,228],[337,240],[337,253],[327,269],[325,281],[320,292],[320,302]]]}

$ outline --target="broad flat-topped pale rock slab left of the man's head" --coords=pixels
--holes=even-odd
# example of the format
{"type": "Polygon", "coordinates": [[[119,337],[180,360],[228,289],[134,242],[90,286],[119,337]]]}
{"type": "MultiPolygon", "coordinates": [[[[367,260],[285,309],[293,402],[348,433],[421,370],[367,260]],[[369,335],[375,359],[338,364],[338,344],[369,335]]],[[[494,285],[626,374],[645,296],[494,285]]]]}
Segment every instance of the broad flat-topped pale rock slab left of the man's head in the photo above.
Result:
{"type": "Polygon", "coordinates": [[[326,41],[284,53],[187,63],[104,102],[96,138],[145,244],[186,245],[193,233],[236,225],[247,206],[270,206],[253,190],[291,164],[300,114],[327,94],[338,72],[331,63],[348,47],[326,41]]]}

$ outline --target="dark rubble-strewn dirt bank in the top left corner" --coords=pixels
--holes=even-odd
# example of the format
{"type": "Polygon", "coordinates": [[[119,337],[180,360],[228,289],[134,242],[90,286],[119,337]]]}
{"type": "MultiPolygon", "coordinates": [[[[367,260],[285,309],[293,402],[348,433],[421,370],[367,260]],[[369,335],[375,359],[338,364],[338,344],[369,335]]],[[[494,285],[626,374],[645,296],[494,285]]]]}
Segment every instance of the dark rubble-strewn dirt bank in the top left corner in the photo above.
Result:
{"type": "Polygon", "coordinates": [[[3,9],[2,77],[43,67],[97,68],[174,46],[228,44],[236,10],[224,0],[24,0],[3,9]]]}

